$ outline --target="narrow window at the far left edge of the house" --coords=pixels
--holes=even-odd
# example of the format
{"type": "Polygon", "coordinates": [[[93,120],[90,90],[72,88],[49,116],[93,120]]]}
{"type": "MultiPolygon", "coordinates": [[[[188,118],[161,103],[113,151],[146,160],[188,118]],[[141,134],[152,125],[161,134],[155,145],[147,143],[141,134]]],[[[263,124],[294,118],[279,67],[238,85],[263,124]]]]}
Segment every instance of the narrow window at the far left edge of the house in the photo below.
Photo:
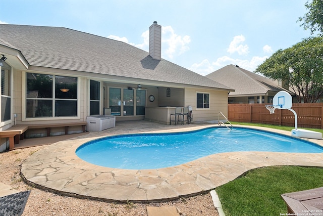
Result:
{"type": "Polygon", "coordinates": [[[11,67],[3,62],[1,67],[1,121],[11,119],[11,67]]]}

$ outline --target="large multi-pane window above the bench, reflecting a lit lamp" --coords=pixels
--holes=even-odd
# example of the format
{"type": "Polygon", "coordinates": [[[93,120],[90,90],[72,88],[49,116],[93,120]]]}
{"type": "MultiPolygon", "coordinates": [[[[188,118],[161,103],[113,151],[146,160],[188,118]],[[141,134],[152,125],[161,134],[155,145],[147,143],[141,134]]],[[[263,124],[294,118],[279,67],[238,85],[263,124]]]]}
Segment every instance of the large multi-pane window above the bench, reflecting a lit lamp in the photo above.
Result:
{"type": "Polygon", "coordinates": [[[77,116],[77,77],[26,73],[26,117],[77,116]]]}

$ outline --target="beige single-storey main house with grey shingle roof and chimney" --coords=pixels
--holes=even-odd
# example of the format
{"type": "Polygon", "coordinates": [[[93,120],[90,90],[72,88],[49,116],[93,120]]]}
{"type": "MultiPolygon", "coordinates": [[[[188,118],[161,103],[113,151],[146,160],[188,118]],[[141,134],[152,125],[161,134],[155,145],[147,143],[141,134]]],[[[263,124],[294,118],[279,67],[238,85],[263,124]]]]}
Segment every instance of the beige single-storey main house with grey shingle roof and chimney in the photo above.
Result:
{"type": "MultiPolygon", "coordinates": [[[[13,125],[70,124],[68,133],[77,133],[77,123],[106,108],[116,121],[164,124],[175,107],[192,106],[196,123],[226,114],[228,92],[234,90],[161,58],[161,26],[153,22],[149,31],[147,53],[64,27],[0,24],[0,132],[13,125]]],[[[44,134],[44,128],[25,132],[44,134]]],[[[7,148],[8,138],[0,138],[7,148]]]]}

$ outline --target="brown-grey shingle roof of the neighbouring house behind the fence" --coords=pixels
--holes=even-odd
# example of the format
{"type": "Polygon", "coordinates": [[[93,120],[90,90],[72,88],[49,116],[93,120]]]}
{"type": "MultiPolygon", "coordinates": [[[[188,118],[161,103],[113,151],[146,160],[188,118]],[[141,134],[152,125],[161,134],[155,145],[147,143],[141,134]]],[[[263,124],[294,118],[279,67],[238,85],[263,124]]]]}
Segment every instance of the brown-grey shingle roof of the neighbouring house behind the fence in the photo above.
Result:
{"type": "Polygon", "coordinates": [[[206,77],[235,89],[235,92],[230,92],[230,96],[265,95],[268,91],[287,91],[278,85],[278,81],[232,64],[216,70],[206,77]]]}

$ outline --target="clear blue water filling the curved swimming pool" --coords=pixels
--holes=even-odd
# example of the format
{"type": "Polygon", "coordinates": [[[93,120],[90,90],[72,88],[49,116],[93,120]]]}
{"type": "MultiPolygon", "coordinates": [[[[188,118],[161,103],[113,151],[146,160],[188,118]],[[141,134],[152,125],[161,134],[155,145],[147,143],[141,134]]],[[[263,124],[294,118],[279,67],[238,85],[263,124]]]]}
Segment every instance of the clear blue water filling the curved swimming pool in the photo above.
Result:
{"type": "Polygon", "coordinates": [[[213,127],[195,132],[105,137],[83,144],[76,154],[87,162],[106,167],[152,169],[234,151],[321,153],[323,148],[298,138],[256,129],[230,131],[213,127]]]}

